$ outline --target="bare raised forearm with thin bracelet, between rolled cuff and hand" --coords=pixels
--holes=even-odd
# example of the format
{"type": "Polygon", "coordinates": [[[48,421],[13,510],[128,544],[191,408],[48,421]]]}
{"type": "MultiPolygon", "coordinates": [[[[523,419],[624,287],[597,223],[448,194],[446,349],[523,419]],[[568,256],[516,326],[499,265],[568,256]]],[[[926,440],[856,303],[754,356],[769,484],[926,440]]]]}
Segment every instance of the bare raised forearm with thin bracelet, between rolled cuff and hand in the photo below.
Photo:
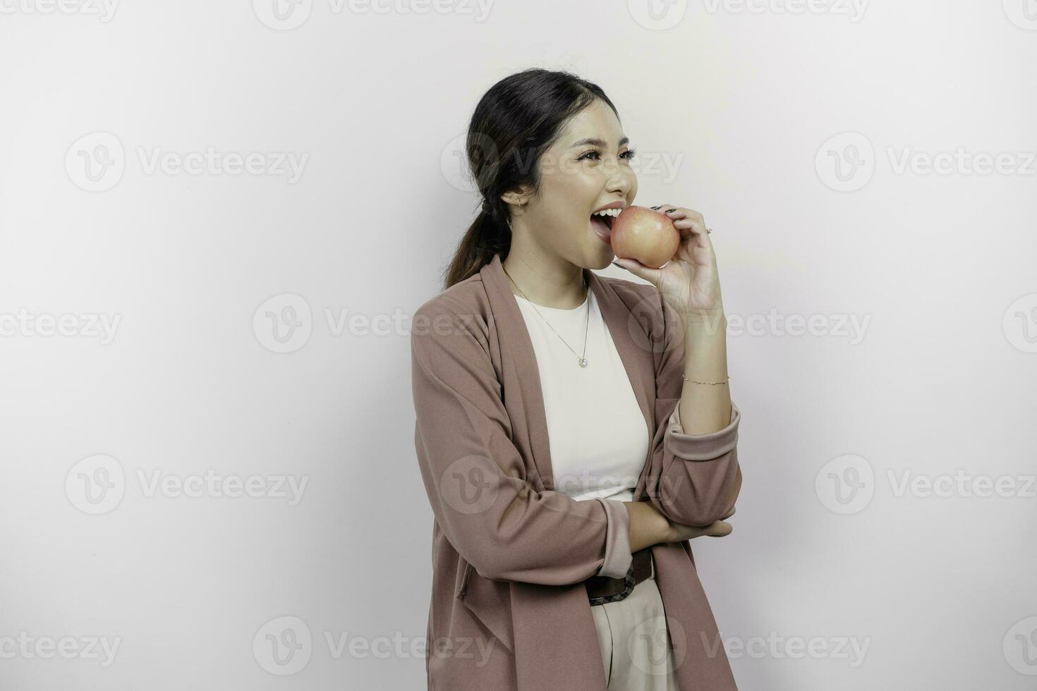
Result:
{"type": "Polygon", "coordinates": [[[731,390],[727,383],[727,317],[684,319],[684,384],[680,393],[680,426],[684,434],[708,434],[731,423],[731,390]]]}

